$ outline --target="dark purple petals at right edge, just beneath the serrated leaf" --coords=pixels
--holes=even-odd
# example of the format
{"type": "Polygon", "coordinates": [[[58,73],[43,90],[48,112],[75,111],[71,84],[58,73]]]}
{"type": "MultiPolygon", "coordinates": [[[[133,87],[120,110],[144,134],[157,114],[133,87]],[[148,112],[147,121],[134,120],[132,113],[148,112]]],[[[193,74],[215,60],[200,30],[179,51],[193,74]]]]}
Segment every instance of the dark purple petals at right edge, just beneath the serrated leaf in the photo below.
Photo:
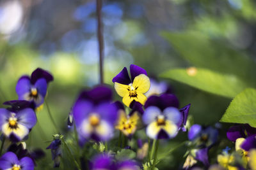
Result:
{"type": "Polygon", "coordinates": [[[256,134],[256,128],[251,127],[249,124],[239,124],[230,127],[227,131],[227,138],[230,141],[236,141],[238,138],[246,138],[256,134]]]}

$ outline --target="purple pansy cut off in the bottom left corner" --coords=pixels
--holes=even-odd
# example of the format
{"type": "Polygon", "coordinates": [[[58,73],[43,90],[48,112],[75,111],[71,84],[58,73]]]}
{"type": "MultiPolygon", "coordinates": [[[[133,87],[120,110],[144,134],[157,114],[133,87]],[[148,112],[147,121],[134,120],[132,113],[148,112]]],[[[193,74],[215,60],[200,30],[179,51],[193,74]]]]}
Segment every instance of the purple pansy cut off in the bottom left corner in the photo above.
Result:
{"type": "Polygon", "coordinates": [[[34,163],[33,160],[29,157],[23,157],[18,159],[15,153],[6,152],[0,158],[0,169],[3,170],[33,170],[34,163]]]}

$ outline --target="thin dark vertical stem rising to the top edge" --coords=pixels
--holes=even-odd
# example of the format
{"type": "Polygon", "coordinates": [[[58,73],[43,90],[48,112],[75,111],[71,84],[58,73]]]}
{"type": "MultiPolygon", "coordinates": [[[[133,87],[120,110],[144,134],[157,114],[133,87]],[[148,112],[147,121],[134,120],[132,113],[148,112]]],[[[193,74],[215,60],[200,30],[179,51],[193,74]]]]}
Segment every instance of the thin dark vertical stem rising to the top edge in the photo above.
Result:
{"type": "Polygon", "coordinates": [[[102,8],[102,0],[97,0],[97,22],[98,22],[97,35],[98,35],[98,44],[99,44],[100,84],[104,82],[104,78],[103,78],[104,40],[103,40],[101,8],[102,8]]]}

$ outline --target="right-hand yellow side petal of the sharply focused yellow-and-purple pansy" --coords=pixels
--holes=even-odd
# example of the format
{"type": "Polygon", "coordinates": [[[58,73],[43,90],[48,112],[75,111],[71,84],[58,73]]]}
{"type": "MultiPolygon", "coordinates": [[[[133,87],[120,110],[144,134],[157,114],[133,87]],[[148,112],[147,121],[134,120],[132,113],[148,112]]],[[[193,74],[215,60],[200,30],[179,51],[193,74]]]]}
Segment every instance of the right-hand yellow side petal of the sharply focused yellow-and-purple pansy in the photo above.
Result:
{"type": "Polygon", "coordinates": [[[132,82],[132,87],[136,89],[137,92],[141,92],[142,94],[145,94],[149,88],[150,88],[150,81],[148,76],[145,74],[140,74],[136,76],[132,82]]]}

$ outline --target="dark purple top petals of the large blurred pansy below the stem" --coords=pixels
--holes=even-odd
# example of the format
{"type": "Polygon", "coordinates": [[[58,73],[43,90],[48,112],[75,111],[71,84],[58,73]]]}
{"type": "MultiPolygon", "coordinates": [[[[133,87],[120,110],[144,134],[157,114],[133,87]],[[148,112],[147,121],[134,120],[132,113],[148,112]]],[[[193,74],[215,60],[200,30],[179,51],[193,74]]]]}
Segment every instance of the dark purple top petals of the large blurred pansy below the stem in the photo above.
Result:
{"type": "Polygon", "coordinates": [[[95,87],[92,90],[84,90],[79,95],[78,99],[87,99],[94,104],[99,104],[112,100],[112,90],[109,87],[101,85],[95,87]]]}

